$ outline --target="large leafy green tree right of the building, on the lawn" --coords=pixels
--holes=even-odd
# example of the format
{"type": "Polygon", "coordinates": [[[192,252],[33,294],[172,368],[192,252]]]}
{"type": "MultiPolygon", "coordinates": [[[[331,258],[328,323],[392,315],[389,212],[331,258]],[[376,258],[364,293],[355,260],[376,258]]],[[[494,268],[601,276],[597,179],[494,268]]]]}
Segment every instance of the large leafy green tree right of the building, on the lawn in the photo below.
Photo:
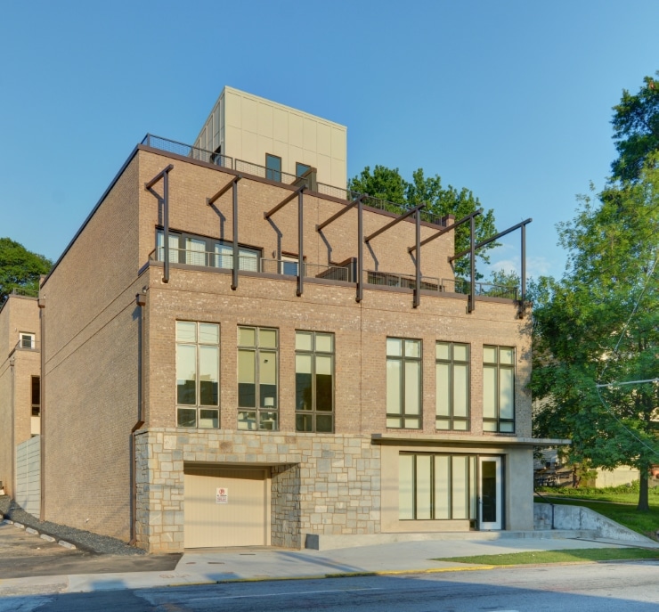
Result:
{"type": "Polygon", "coordinates": [[[559,224],[560,281],[533,283],[532,391],[540,437],[572,438],[569,458],[639,469],[639,510],[659,462],[659,169],[584,197],[559,224]],[[642,382],[650,380],[650,382],[642,382]],[[654,380],[654,382],[652,382],[654,380]]]}

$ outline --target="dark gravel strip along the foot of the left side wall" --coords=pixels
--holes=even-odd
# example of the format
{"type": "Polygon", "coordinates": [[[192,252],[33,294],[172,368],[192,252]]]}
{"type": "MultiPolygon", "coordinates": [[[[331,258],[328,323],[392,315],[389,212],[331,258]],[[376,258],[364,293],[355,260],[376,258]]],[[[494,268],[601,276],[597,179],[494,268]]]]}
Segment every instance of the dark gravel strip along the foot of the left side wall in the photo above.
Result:
{"type": "Polygon", "coordinates": [[[141,548],[129,546],[127,543],[108,535],[93,534],[84,529],[76,529],[66,525],[58,525],[47,520],[39,520],[12,502],[8,495],[0,495],[0,514],[4,518],[21,523],[24,526],[37,529],[39,534],[50,535],[56,540],[64,540],[75,544],[83,551],[95,552],[103,555],[144,555],[146,551],[141,548]]]}

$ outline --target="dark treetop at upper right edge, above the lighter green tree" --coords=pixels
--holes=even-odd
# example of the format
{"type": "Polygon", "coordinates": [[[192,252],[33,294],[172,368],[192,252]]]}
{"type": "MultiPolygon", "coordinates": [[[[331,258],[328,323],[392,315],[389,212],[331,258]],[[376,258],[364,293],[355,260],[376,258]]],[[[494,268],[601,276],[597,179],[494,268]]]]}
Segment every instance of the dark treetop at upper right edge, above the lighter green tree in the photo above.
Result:
{"type": "MultiPolygon", "coordinates": [[[[659,70],[656,72],[659,77],[659,70]]],[[[614,178],[636,181],[647,157],[659,151],[659,83],[651,77],[643,79],[639,93],[622,90],[622,100],[614,106],[615,148],[619,156],[611,169],[614,178]]]]}

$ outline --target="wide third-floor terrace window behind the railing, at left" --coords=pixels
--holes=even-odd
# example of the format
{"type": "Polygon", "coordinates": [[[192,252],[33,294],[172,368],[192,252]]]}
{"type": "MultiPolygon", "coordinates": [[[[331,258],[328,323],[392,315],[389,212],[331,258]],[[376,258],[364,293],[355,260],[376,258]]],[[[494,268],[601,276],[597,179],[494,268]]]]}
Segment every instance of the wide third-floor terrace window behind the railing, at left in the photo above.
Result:
{"type": "MultiPolygon", "coordinates": [[[[158,260],[165,259],[165,235],[157,233],[158,260]]],[[[258,272],[261,251],[248,247],[238,248],[238,268],[258,272]]],[[[186,233],[169,233],[169,261],[174,264],[204,265],[216,268],[233,267],[233,243],[217,241],[186,233]]]]}

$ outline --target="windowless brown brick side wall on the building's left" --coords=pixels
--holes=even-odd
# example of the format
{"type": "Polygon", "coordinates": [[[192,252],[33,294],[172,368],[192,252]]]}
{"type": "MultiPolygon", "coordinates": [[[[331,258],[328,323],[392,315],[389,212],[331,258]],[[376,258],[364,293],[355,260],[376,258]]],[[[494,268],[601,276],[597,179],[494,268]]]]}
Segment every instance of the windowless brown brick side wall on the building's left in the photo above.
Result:
{"type": "Polygon", "coordinates": [[[45,518],[128,539],[137,420],[137,159],[42,288],[45,518]]]}

